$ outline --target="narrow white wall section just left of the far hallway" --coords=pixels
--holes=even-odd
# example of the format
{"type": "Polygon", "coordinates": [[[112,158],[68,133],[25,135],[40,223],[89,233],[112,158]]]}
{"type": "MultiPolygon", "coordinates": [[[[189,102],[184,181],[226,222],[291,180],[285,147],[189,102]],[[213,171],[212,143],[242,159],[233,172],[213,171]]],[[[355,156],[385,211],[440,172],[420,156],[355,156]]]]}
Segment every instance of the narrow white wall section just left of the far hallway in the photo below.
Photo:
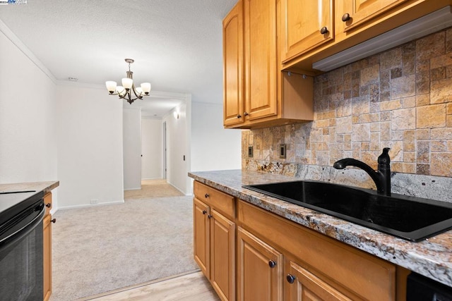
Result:
{"type": "Polygon", "coordinates": [[[124,190],[141,189],[141,109],[123,109],[124,190]]]}

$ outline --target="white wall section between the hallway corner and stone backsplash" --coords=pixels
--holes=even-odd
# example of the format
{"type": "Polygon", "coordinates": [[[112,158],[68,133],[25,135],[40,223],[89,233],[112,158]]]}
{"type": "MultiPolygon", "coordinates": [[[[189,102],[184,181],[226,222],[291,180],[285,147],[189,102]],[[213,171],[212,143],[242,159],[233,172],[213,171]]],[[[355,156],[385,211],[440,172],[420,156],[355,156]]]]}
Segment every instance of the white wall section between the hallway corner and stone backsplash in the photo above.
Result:
{"type": "Polygon", "coordinates": [[[242,130],[223,127],[222,104],[191,107],[191,171],[242,168],[242,130]]]}

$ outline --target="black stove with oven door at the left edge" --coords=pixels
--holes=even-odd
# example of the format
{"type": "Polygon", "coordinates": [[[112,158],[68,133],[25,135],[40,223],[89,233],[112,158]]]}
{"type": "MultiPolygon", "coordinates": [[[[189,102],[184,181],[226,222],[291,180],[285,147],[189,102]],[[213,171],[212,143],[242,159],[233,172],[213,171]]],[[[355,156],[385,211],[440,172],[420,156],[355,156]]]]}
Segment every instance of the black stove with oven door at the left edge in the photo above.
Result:
{"type": "Polygon", "coordinates": [[[42,300],[44,192],[0,192],[1,300],[42,300]]]}

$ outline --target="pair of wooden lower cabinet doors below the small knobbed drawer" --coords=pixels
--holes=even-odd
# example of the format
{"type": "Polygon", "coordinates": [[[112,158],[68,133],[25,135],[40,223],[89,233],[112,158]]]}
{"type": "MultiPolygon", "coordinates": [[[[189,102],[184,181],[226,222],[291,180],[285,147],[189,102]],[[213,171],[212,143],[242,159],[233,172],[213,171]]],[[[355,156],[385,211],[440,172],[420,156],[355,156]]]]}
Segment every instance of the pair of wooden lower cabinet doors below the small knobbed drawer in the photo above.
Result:
{"type": "Polygon", "coordinates": [[[194,259],[221,300],[235,300],[235,223],[196,197],[194,259]]]}

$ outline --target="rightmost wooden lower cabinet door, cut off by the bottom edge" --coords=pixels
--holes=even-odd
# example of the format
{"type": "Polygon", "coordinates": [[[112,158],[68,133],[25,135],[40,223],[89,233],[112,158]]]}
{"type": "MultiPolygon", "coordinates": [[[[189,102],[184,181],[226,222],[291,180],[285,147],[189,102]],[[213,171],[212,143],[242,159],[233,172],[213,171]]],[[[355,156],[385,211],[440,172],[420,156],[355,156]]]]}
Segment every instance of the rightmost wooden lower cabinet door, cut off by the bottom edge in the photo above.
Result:
{"type": "Polygon", "coordinates": [[[319,300],[337,300],[345,301],[350,298],[332,288],[331,285],[322,281],[320,278],[311,274],[307,269],[302,268],[295,262],[286,261],[285,275],[290,301],[319,301],[319,300]]]}

